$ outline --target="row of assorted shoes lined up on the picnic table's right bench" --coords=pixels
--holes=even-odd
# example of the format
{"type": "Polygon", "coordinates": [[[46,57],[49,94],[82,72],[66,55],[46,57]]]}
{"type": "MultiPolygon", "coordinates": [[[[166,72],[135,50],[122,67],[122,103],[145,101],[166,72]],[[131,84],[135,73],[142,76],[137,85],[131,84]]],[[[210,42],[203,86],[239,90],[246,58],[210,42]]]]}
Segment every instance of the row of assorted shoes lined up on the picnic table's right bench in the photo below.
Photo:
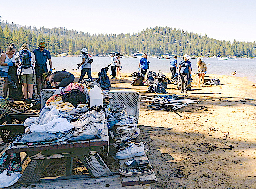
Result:
{"type": "MultiPolygon", "coordinates": [[[[115,106],[111,110],[112,117],[108,118],[110,137],[115,141],[115,158],[122,160],[137,156],[143,156],[149,150],[148,144],[142,142],[137,127],[137,120],[134,116],[128,116],[125,105],[115,106]]],[[[148,161],[126,162],[127,167],[119,168],[119,173],[126,176],[139,176],[151,174],[154,168],[148,161]]]]}

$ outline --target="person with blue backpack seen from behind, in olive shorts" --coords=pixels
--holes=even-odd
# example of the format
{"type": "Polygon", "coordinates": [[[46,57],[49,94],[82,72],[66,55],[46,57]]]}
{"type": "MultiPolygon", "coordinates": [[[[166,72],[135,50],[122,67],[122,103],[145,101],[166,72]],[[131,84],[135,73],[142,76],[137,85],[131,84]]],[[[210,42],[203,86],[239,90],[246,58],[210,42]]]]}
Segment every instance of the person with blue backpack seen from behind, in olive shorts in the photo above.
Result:
{"type": "Polygon", "coordinates": [[[20,51],[15,55],[15,60],[18,66],[17,75],[19,77],[19,83],[22,84],[24,98],[31,99],[33,95],[33,84],[36,80],[34,68],[36,58],[34,53],[29,50],[28,44],[22,44],[20,51]]]}

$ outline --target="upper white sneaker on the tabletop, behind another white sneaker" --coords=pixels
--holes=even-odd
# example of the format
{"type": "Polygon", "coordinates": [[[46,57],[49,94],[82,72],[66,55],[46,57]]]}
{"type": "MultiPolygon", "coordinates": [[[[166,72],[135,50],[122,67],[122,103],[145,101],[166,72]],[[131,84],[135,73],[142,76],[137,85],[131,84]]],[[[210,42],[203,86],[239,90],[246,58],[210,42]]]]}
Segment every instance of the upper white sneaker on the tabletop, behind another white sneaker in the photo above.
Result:
{"type": "Polygon", "coordinates": [[[78,121],[73,121],[71,123],[74,125],[75,129],[80,129],[87,123],[88,118],[91,118],[94,122],[99,122],[99,119],[105,120],[105,113],[103,110],[100,112],[92,110],[83,114],[78,121]]]}

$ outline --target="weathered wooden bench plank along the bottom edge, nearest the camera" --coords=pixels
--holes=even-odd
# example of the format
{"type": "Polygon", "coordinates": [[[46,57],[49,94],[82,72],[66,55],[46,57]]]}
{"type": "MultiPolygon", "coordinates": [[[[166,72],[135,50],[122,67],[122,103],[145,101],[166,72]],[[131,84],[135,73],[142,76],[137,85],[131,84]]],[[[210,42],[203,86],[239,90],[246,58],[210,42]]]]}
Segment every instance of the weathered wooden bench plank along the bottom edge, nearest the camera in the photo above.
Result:
{"type": "MultiPolygon", "coordinates": [[[[32,184],[31,184],[32,185],[32,184]]],[[[125,188],[121,185],[119,175],[101,177],[101,178],[80,178],[80,179],[68,179],[68,180],[55,180],[55,181],[42,181],[39,183],[33,183],[35,189],[150,189],[151,185],[138,185],[127,186],[125,188]]],[[[27,189],[31,186],[27,184],[15,184],[11,188],[16,187],[19,189],[27,189]]],[[[10,188],[10,187],[9,187],[10,188]]],[[[9,189],[8,188],[8,189],[9,189]]]]}

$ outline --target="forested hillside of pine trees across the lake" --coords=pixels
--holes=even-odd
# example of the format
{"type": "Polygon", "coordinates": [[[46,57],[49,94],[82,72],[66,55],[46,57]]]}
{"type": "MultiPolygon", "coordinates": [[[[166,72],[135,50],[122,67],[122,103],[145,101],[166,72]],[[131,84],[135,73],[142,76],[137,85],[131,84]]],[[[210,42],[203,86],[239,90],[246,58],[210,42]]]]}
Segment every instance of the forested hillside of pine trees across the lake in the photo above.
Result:
{"type": "Polygon", "coordinates": [[[34,27],[17,27],[1,21],[0,48],[5,51],[8,44],[14,43],[19,48],[23,43],[37,48],[39,41],[45,41],[46,49],[52,55],[60,53],[80,54],[82,47],[88,48],[89,54],[107,55],[120,52],[130,55],[133,52],[146,52],[150,55],[184,55],[191,56],[240,56],[256,57],[255,42],[234,40],[220,41],[194,32],[170,27],[146,28],[143,31],[128,34],[93,34],[77,32],[65,27],[37,29],[34,27]]]}

